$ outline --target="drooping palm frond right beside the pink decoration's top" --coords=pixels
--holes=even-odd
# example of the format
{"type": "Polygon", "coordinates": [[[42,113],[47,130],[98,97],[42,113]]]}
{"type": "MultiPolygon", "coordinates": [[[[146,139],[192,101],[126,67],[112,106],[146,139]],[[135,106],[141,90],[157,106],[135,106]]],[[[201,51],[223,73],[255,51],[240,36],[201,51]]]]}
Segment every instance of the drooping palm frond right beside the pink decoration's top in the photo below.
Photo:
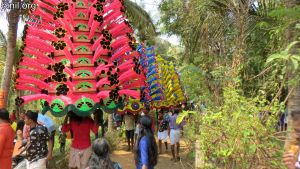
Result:
{"type": "Polygon", "coordinates": [[[134,28],[138,29],[139,35],[151,39],[157,35],[155,25],[149,14],[137,3],[125,0],[126,15],[134,28]]]}

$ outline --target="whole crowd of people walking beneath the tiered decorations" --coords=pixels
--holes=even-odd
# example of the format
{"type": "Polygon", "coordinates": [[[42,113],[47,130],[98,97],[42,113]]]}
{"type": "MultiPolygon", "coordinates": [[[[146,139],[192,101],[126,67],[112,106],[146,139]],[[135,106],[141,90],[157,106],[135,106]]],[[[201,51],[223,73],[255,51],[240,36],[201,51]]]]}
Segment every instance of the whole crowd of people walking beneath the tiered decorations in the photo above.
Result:
{"type": "MultiPolygon", "coordinates": [[[[149,116],[149,108],[138,115],[126,113],[123,116],[128,151],[134,153],[137,169],[154,168],[158,154],[162,153],[162,143],[168,150],[169,139],[172,160],[180,159],[179,143],[183,124],[176,123],[178,113],[179,109],[173,113],[161,110],[158,112],[157,125],[153,116],[149,116]],[[157,131],[155,126],[158,126],[157,131]]],[[[71,133],[69,168],[121,169],[119,163],[110,159],[107,140],[98,138],[99,114],[94,113],[93,117],[81,117],[72,111],[68,112],[59,129],[60,152],[65,152],[66,133],[71,133]],[[97,138],[93,143],[91,132],[97,138]]],[[[55,124],[39,112],[28,110],[16,115],[16,112],[9,114],[6,109],[0,109],[0,169],[11,169],[18,166],[20,161],[26,163],[27,169],[49,168],[55,132],[55,124]]]]}

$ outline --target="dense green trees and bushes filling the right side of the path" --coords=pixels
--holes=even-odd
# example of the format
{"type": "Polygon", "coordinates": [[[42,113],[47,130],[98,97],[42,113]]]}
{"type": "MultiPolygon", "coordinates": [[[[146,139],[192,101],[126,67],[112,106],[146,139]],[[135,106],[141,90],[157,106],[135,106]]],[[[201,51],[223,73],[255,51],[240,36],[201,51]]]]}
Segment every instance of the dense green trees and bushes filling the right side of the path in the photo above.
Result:
{"type": "Polygon", "coordinates": [[[179,36],[184,47],[177,61],[186,95],[196,110],[207,106],[182,114],[185,137],[191,145],[200,141],[204,168],[283,168],[276,125],[287,84],[299,76],[299,6],[247,2],[160,4],[164,31],[179,36]]]}

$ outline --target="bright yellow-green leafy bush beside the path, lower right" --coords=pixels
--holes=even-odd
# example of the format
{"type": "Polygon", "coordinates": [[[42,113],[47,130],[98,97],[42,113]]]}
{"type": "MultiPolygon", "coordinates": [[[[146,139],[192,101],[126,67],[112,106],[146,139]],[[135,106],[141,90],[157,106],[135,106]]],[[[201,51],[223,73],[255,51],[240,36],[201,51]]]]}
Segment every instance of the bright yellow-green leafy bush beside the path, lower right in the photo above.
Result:
{"type": "Polygon", "coordinates": [[[205,168],[282,168],[282,142],[276,138],[277,112],[259,97],[224,90],[224,104],[188,118],[185,135],[200,141],[205,168]],[[268,113],[266,113],[268,112],[268,113]]]}

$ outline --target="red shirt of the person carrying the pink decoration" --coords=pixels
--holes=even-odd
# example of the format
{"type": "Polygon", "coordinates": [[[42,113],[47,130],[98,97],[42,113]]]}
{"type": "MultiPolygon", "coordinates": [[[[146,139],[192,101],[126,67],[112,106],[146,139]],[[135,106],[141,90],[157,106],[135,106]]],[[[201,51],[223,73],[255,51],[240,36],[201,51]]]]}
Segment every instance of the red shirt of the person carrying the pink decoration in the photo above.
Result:
{"type": "Polygon", "coordinates": [[[97,133],[98,125],[94,124],[91,118],[84,118],[81,122],[71,120],[69,124],[62,126],[62,132],[73,132],[72,147],[76,149],[86,149],[91,145],[90,131],[97,133]]]}

